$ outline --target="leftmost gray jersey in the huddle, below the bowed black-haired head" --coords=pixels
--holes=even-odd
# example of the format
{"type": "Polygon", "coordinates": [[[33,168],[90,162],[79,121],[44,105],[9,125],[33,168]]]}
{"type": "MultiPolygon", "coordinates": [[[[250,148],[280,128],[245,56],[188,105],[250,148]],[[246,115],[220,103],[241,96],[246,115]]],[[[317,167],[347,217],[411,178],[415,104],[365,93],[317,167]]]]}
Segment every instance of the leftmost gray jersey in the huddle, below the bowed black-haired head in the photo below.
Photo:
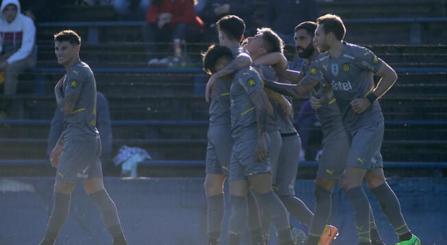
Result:
{"type": "Polygon", "coordinates": [[[230,125],[230,86],[231,79],[222,79],[216,83],[211,98],[209,114],[210,126],[230,125]]]}

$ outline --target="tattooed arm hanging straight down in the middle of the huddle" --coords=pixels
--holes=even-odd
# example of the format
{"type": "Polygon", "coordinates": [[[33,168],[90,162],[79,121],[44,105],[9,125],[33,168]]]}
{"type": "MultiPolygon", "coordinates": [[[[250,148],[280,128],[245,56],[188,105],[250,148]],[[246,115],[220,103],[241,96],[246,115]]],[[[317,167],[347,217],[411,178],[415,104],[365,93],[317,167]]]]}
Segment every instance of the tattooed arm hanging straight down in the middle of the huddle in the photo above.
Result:
{"type": "Polygon", "coordinates": [[[268,115],[273,114],[273,108],[262,89],[252,92],[250,94],[250,101],[252,101],[255,107],[258,123],[258,143],[255,153],[256,161],[262,162],[269,154],[267,149],[267,122],[268,115]]]}

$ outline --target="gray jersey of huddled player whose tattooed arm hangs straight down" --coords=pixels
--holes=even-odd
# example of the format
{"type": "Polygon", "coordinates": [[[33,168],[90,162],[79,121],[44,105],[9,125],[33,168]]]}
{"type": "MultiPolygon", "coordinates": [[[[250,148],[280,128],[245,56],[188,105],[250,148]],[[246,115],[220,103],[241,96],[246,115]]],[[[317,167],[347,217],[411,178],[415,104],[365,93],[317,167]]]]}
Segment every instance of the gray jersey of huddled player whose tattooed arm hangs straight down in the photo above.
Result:
{"type": "Polygon", "coordinates": [[[257,129],[256,108],[250,100],[250,94],[262,89],[261,77],[254,68],[242,68],[234,74],[230,88],[233,138],[246,129],[257,129]]]}

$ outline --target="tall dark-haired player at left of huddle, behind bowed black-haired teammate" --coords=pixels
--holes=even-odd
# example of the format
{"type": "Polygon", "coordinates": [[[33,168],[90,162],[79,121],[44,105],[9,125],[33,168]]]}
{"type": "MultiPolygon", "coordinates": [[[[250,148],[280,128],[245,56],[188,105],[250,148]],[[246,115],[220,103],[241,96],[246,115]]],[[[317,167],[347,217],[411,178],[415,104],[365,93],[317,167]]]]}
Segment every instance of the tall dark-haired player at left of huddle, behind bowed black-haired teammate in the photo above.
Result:
{"type": "MultiPolygon", "coordinates": [[[[252,64],[250,55],[240,48],[245,31],[244,21],[237,16],[224,16],[216,24],[219,31],[219,43],[228,47],[235,58],[228,66],[219,68],[217,73],[211,75],[209,70],[206,70],[217,81],[213,92],[210,93],[210,125],[208,128],[208,146],[205,161],[206,177],[204,189],[207,201],[208,245],[219,244],[224,216],[224,181],[228,176],[233,146],[230,131],[230,85],[232,83],[232,74],[234,71],[252,64]]],[[[208,88],[211,88],[211,86],[208,88]]],[[[252,192],[248,194],[248,203],[250,205],[250,216],[253,221],[250,222],[252,244],[262,244],[259,209],[252,192]]]]}

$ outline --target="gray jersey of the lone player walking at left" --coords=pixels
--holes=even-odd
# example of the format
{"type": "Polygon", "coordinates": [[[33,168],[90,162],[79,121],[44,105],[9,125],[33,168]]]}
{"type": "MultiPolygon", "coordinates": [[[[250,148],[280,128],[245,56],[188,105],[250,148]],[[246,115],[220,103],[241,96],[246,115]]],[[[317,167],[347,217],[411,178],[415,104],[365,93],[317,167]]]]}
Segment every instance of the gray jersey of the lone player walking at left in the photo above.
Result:
{"type": "Polygon", "coordinates": [[[79,99],[73,112],[64,116],[65,140],[91,140],[99,137],[96,129],[96,81],[88,64],[77,62],[69,68],[62,93],[75,92],[79,99]]]}

